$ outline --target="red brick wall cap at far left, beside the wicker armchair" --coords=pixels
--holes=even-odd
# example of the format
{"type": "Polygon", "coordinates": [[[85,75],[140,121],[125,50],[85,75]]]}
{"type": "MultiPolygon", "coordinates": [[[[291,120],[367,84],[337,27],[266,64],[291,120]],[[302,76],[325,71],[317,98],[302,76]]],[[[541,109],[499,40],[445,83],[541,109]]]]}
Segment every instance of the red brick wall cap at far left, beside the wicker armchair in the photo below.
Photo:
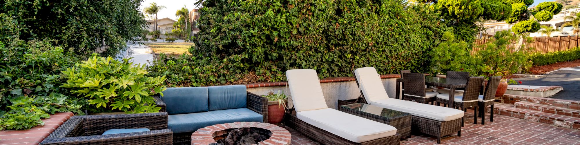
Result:
{"type": "Polygon", "coordinates": [[[73,115],[73,113],[56,113],[50,115],[50,118],[42,119],[44,125],[38,125],[26,131],[2,131],[0,144],[39,144],[73,115]]]}

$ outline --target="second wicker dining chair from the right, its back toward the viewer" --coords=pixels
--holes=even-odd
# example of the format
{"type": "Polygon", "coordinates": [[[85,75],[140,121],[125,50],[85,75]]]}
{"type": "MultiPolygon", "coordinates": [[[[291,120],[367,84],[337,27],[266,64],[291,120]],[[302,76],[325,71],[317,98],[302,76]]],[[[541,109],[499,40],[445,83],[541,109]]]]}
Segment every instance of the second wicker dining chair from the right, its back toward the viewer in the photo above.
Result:
{"type": "MultiPolygon", "coordinates": [[[[465,92],[463,92],[463,95],[455,95],[455,99],[453,101],[455,108],[461,108],[461,110],[465,112],[467,112],[468,107],[474,107],[473,110],[475,121],[473,121],[473,124],[477,124],[477,99],[481,90],[481,83],[483,83],[483,77],[467,78],[465,92]]],[[[449,94],[441,93],[437,95],[436,101],[437,105],[440,105],[440,103],[448,105],[447,103],[449,102],[449,94]]]]}

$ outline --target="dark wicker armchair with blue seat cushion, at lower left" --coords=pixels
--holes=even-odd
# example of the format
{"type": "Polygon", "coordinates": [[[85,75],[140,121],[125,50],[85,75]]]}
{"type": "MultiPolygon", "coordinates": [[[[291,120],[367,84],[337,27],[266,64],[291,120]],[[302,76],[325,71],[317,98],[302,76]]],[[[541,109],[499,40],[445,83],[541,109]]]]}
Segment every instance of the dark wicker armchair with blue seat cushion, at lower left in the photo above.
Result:
{"type": "Polygon", "coordinates": [[[171,144],[167,113],[74,116],[40,144],[171,144]],[[151,131],[102,135],[110,129],[151,131]]]}

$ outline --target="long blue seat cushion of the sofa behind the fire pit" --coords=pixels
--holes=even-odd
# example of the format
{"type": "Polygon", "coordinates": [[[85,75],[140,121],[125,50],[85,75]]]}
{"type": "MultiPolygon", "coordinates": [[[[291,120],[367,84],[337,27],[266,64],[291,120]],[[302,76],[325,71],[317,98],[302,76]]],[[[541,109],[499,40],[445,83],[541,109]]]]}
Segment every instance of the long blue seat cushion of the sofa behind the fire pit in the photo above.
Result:
{"type": "Polygon", "coordinates": [[[169,115],[168,128],[173,133],[194,132],[197,129],[231,122],[263,122],[264,117],[248,108],[216,110],[204,113],[169,115]]]}

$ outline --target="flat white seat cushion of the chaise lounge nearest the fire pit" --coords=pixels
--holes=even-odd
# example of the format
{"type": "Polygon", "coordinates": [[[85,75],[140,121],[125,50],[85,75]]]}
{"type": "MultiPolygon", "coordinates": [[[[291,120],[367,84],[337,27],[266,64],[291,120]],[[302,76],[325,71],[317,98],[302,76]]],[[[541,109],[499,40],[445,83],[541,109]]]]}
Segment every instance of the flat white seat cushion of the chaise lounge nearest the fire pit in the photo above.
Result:
{"type": "Polygon", "coordinates": [[[362,143],[397,134],[393,126],[382,124],[332,108],[300,111],[298,119],[351,142],[362,143]]]}

